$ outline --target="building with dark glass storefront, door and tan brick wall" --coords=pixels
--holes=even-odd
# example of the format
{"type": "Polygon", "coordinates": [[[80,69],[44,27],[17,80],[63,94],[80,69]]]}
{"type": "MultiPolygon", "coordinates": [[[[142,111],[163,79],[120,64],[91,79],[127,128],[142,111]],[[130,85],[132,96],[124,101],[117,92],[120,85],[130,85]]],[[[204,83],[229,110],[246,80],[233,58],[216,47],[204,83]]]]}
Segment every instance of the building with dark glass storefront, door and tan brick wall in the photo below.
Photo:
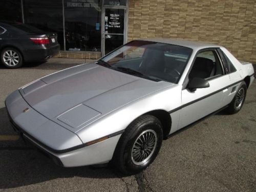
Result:
{"type": "Polygon", "coordinates": [[[96,59],[133,39],[172,37],[256,63],[255,0],[0,0],[0,20],[56,32],[59,57],[96,59]]]}

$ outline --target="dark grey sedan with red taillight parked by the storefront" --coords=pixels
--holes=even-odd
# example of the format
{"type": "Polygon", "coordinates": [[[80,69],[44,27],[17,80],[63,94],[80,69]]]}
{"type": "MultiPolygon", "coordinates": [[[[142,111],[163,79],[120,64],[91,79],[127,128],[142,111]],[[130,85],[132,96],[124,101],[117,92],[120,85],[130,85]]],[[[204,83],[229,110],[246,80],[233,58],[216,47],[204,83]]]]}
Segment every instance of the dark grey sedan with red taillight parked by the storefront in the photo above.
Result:
{"type": "Polygon", "coordinates": [[[24,62],[45,60],[58,52],[56,33],[21,23],[0,22],[0,56],[5,67],[18,68],[24,62]]]}

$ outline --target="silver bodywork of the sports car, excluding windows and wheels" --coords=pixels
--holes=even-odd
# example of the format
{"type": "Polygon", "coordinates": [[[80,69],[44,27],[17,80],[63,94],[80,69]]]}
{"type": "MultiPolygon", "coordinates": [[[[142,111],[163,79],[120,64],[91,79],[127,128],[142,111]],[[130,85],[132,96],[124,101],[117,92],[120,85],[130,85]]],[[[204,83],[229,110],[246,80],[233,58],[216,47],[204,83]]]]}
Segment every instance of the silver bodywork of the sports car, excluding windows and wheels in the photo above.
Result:
{"type": "Polygon", "coordinates": [[[168,112],[172,134],[229,104],[246,76],[250,84],[254,80],[251,63],[241,65],[224,47],[177,39],[141,40],[193,49],[177,84],[95,63],[80,65],[42,77],[9,95],[10,118],[25,137],[58,157],[64,166],[104,163],[111,160],[121,133],[137,117],[154,110],[168,112]],[[220,48],[237,71],[209,79],[209,88],[190,92],[184,88],[187,74],[198,51],[206,48],[220,48]]]}

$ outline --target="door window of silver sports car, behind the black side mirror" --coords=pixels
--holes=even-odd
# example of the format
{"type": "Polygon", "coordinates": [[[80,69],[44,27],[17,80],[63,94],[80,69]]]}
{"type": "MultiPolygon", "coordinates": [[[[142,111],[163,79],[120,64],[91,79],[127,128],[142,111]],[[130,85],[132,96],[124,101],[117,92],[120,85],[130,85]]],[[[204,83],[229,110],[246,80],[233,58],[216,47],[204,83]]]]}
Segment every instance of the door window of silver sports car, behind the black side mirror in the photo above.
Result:
{"type": "Polygon", "coordinates": [[[219,75],[223,75],[221,62],[216,51],[210,50],[197,54],[188,78],[192,79],[197,77],[206,79],[219,75]]]}

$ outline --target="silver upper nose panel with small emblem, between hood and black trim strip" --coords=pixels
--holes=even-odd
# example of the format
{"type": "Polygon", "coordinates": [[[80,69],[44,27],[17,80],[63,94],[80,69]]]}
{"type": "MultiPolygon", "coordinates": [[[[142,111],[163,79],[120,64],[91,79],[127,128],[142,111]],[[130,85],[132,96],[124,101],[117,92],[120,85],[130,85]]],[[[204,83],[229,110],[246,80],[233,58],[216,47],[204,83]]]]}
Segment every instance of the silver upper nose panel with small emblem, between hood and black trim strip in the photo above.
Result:
{"type": "Polygon", "coordinates": [[[18,90],[7,97],[6,106],[17,126],[22,127],[24,132],[50,148],[60,151],[82,144],[77,135],[31,108],[18,90]],[[24,111],[26,109],[28,110],[24,111]]]}

